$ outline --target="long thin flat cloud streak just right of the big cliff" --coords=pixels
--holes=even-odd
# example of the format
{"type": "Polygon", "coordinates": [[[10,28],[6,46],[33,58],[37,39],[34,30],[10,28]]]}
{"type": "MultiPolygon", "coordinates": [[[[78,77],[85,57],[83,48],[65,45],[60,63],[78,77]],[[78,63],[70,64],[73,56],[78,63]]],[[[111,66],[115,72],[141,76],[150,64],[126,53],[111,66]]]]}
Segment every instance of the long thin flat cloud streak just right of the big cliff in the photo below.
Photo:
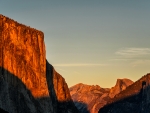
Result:
{"type": "Polygon", "coordinates": [[[83,63],[83,64],[76,64],[76,63],[73,63],[73,64],[54,64],[54,66],[56,67],[83,67],[83,66],[108,66],[108,64],[86,64],[86,63],[83,63]]]}

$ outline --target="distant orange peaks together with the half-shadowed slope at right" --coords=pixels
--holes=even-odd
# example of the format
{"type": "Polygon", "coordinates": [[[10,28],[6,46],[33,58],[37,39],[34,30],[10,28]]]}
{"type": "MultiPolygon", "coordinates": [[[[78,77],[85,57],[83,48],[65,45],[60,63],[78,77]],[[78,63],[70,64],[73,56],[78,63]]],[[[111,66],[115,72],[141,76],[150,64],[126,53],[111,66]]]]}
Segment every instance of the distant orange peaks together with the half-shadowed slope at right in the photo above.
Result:
{"type": "Polygon", "coordinates": [[[150,73],[136,82],[117,79],[112,88],[80,83],[70,94],[80,113],[150,113],[150,73]]]}

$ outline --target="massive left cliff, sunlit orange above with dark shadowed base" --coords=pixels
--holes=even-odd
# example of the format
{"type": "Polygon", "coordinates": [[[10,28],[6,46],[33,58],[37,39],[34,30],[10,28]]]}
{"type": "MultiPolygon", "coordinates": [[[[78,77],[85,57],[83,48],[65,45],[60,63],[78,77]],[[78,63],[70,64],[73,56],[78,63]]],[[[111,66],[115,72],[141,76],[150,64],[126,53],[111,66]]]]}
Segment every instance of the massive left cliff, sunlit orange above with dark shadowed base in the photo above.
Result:
{"type": "Polygon", "coordinates": [[[44,34],[3,15],[0,108],[10,113],[78,112],[64,78],[46,61],[44,34]]]}

